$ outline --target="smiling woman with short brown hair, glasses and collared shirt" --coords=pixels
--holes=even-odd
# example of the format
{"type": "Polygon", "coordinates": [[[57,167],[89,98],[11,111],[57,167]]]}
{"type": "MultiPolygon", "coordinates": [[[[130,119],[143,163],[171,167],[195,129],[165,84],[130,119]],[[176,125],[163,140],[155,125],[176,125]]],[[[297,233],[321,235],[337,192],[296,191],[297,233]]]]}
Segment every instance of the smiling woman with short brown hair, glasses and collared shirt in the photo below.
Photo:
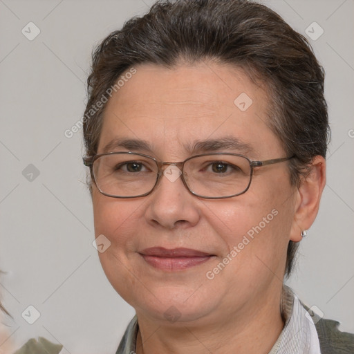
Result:
{"type": "Polygon", "coordinates": [[[136,310],[118,354],[353,352],[283,286],[326,183],[323,93],[306,39],[257,3],[159,1],[104,39],[84,163],[136,310]]]}

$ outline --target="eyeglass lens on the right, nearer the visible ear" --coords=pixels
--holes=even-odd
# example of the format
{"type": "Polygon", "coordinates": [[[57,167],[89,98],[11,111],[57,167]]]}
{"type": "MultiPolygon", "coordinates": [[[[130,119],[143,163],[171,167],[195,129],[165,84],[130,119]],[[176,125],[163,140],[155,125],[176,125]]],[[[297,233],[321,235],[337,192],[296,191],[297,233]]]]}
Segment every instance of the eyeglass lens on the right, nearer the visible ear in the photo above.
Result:
{"type": "Polygon", "coordinates": [[[194,194],[222,198],[245,192],[250,185],[251,167],[242,156],[205,155],[187,160],[184,176],[194,194]]]}

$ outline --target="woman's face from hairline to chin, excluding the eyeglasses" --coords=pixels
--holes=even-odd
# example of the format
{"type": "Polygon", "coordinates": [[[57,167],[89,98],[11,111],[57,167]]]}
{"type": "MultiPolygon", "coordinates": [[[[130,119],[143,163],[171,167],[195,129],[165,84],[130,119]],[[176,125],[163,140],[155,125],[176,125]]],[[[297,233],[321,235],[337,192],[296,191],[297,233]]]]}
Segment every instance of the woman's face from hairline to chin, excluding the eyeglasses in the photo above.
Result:
{"type": "MultiPolygon", "coordinates": [[[[118,139],[146,144],[109,151],[162,161],[207,152],[286,157],[269,128],[267,95],[240,70],[205,62],[136,71],[107,103],[97,153],[118,139]],[[210,140],[225,144],[202,144],[210,140]]],[[[138,315],[155,321],[250,315],[279,298],[290,234],[300,233],[296,195],[286,162],[255,168],[248,192],[225,199],[198,198],[167,175],[139,198],[111,198],[93,185],[95,236],[111,243],[100,253],[102,267],[138,315]],[[189,251],[163,252],[180,248],[189,251]]]]}

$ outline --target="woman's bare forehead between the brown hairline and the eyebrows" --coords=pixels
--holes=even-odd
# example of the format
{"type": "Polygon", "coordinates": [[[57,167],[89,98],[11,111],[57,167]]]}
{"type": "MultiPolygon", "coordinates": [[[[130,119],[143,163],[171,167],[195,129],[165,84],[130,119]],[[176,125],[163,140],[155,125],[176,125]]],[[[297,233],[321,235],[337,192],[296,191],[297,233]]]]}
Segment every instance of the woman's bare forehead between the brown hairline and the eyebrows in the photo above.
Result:
{"type": "Polygon", "coordinates": [[[199,140],[236,138],[257,155],[279,149],[267,113],[265,90],[241,69],[213,62],[143,64],[107,102],[99,152],[117,138],[175,154],[199,140]]]}

